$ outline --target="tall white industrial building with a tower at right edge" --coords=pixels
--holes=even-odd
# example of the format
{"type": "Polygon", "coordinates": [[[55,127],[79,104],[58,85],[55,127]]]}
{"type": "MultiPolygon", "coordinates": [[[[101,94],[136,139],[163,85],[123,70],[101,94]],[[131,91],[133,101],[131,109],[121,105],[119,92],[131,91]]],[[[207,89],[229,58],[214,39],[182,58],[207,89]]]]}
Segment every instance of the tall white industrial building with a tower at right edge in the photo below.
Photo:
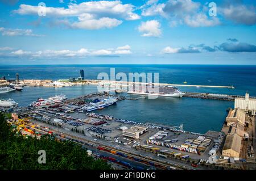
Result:
{"type": "Polygon", "coordinates": [[[242,110],[251,111],[253,115],[256,112],[256,99],[250,98],[249,94],[245,94],[245,98],[236,98],[234,108],[240,108],[242,110]]]}

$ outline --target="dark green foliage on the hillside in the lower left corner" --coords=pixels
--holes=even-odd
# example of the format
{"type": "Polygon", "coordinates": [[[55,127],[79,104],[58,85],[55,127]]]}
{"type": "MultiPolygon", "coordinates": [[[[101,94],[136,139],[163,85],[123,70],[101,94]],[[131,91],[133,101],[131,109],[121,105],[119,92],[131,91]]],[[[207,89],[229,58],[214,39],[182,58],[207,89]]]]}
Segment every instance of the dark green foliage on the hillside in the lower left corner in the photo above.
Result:
{"type": "Polygon", "coordinates": [[[23,137],[0,115],[0,169],[110,169],[101,159],[90,157],[81,145],[71,141],[56,141],[50,136],[40,139],[23,137]],[[46,151],[46,163],[39,164],[39,150],[46,151]]]}

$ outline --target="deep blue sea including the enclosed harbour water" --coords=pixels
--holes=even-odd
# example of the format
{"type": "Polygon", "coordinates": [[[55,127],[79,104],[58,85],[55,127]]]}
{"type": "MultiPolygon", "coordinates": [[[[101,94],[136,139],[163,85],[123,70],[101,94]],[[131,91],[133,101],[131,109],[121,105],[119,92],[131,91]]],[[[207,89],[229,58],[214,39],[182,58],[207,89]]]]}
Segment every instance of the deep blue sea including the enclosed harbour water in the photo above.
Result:
{"type": "MultiPolygon", "coordinates": [[[[80,70],[85,72],[85,79],[97,79],[98,74],[107,73],[114,68],[115,74],[158,73],[160,83],[188,85],[234,86],[235,89],[209,87],[178,87],[181,91],[208,92],[215,94],[256,96],[256,66],[253,65],[1,65],[0,77],[15,79],[68,79],[80,77],[80,70]]],[[[65,94],[68,98],[97,92],[97,86],[72,87],[24,87],[23,91],[0,94],[1,99],[14,99],[19,106],[28,106],[38,98],[65,94]]],[[[227,109],[234,107],[234,102],[225,100],[204,100],[197,98],[147,99],[138,96],[138,100],[122,100],[116,105],[98,110],[104,115],[138,122],[151,122],[179,126],[185,131],[205,133],[220,131],[227,115],[227,109]]]]}

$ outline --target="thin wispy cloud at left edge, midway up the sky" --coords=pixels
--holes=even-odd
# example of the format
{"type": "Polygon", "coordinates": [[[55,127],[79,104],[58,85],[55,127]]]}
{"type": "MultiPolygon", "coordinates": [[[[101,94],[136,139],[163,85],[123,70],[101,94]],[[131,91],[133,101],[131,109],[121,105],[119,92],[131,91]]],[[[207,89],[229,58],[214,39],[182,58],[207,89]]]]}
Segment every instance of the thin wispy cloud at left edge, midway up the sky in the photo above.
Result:
{"type": "Polygon", "coordinates": [[[30,29],[11,29],[11,28],[3,28],[0,27],[0,32],[3,36],[44,36],[44,35],[38,35],[35,34],[30,29]]]}

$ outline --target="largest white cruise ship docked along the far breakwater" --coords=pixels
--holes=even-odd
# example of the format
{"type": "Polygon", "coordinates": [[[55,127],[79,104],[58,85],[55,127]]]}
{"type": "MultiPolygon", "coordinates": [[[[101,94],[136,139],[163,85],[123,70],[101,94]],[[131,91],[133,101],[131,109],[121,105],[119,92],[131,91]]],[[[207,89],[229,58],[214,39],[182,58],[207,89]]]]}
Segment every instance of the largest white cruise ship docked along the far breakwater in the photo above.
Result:
{"type": "Polygon", "coordinates": [[[154,85],[139,85],[138,87],[135,87],[135,85],[133,85],[132,89],[127,91],[127,93],[177,98],[181,98],[185,94],[174,86],[158,86],[158,90],[156,90],[157,89],[155,89],[154,85]]]}

